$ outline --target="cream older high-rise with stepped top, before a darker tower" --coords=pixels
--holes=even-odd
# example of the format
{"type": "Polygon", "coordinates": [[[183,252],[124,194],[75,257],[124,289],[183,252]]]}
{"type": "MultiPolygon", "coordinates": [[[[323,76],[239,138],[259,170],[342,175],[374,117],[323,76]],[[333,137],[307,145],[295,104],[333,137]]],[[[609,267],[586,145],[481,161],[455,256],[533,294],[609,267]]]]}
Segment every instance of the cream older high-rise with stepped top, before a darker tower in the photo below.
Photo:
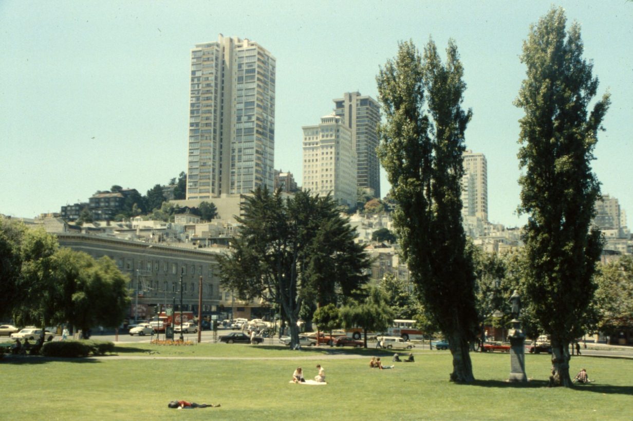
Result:
{"type": "Polygon", "coordinates": [[[356,154],[352,132],[341,117],[328,115],[303,129],[303,189],[330,194],[339,204],[356,204],[356,154]]]}

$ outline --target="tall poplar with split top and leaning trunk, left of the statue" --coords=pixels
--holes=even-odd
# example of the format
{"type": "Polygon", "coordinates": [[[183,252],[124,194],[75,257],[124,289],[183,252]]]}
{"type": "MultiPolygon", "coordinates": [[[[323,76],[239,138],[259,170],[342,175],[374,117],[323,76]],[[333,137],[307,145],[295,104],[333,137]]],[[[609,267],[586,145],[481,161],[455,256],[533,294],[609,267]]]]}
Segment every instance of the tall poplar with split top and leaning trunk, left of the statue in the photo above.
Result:
{"type": "Polygon", "coordinates": [[[475,277],[461,225],[461,155],[472,113],[461,108],[466,84],[452,40],[446,54],[443,64],[433,41],[423,57],[413,42],[401,42],[380,69],[379,157],[398,203],[394,225],[411,279],[449,341],[450,379],[472,382],[475,277]]]}

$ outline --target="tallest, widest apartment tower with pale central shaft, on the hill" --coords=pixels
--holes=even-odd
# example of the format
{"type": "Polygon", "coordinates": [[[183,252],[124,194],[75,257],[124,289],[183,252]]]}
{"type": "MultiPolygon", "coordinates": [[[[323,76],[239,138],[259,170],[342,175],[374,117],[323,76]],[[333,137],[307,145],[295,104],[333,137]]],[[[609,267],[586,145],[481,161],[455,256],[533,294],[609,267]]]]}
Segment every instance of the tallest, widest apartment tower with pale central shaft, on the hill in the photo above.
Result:
{"type": "Polygon", "coordinates": [[[273,189],[275,58],[218,36],[191,50],[187,199],[273,189]]]}

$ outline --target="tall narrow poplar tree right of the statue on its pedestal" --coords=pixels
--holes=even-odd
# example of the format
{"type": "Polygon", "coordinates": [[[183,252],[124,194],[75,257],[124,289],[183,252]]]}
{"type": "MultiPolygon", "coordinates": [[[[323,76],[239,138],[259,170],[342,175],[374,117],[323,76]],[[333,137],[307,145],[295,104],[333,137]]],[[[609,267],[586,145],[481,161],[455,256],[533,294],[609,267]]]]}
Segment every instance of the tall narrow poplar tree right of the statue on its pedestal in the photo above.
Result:
{"type": "Polygon", "coordinates": [[[525,110],[518,153],[525,170],[519,210],[528,215],[525,291],[551,335],[552,386],[572,385],[568,346],[584,333],[596,289],[602,246],[591,219],[600,189],[590,164],[609,106],[605,94],[587,110],[598,79],[582,58],[579,25],[566,30],[565,23],[558,8],[530,27],[521,56],[527,77],[515,101],[525,110]]]}

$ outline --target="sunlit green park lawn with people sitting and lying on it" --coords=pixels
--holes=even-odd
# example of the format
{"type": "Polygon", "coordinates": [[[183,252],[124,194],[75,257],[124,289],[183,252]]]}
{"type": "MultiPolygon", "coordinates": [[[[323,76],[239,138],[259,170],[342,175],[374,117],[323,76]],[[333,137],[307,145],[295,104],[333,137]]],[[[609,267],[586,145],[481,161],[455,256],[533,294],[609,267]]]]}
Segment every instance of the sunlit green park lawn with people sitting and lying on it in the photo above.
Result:
{"type": "Polygon", "coordinates": [[[118,346],[116,355],[77,360],[39,357],[0,361],[0,419],[424,420],[633,418],[633,360],[574,357],[596,382],[549,389],[548,355],[527,355],[527,384],[509,384],[508,354],[471,355],[474,384],[448,381],[448,351],[418,351],[415,363],[368,368],[376,349],[202,344],[118,346]],[[149,354],[148,351],[159,353],[149,354]],[[294,368],[306,378],[321,363],[327,386],[289,384],[294,368]],[[220,408],[173,410],[170,400],[220,403],[220,408]],[[9,404],[10,403],[10,404],[9,404]]]}

